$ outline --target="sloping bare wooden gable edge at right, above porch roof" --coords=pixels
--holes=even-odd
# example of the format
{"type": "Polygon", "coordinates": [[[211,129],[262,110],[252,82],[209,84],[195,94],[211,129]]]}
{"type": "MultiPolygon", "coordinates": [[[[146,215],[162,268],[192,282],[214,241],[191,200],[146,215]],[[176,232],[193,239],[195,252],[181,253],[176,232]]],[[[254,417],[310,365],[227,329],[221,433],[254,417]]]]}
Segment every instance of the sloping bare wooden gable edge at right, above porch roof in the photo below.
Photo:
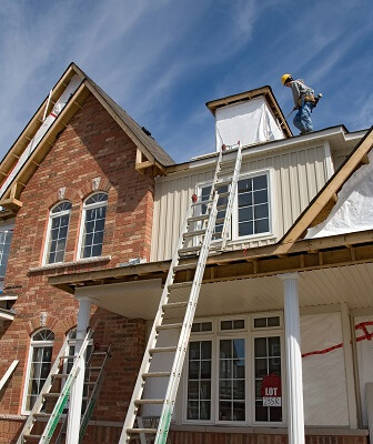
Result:
{"type": "Polygon", "coordinates": [[[280,244],[291,245],[300,238],[303,238],[309,228],[317,225],[327,218],[337,201],[336,193],[362,164],[369,162],[367,153],[372,148],[373,127],[370,128],[349,158],[342,163],[334,175],[332,175],[332,178],[325,183],[320,192],[313,198],[309,206],[283,235],[279,242],[280,244]]]}

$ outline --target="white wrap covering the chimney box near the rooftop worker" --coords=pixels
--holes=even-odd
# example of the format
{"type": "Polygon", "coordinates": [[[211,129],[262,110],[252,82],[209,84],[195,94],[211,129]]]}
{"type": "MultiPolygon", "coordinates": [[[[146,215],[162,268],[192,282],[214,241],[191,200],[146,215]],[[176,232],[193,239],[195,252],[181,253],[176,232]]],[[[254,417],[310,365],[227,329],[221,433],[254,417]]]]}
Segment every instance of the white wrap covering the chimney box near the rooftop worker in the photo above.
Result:
{"type": "Polygon", "coordinates": [[[215,112],[216,151],[221,145],[243,147],[271,140],[284,139],[284,133],[264,97],[223,108],[215,112]]]}

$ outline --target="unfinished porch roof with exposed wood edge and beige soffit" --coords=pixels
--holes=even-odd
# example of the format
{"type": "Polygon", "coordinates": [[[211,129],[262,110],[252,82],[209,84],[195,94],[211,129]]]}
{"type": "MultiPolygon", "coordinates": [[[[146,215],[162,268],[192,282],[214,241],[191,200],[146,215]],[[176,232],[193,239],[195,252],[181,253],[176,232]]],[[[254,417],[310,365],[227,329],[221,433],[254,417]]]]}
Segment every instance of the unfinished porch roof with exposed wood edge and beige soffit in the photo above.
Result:
{"type": "MultiPolygon", "coordinates": [[[[184,264],[193,262],[183,260],[184,264]]],[[[170,261],[51,276],[53,286],[89,297],[94,304],[129,316],[152,319],[170,261]]],[[[221,253],[208,259],[196,316],[282,310],[278,274],[299,272],[301,306],[346,303],[373,307],[373,230],[289,245],[266,245],[221,253]]],[[[175,283],[190,281],[191,271],[177,273],[175,283]]],[[[189,287],[172,290],[183,301],[189,287]]],[[[178,317],[178,312],[174,312],[178,317]]]]}

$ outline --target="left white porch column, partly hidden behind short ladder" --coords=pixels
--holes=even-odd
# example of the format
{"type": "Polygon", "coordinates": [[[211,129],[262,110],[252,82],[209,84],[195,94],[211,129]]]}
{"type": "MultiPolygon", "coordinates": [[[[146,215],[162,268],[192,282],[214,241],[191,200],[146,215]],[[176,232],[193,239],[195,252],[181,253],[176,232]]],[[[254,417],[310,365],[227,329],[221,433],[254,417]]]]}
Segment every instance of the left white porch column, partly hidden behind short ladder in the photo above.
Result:
{"type": "MultiPolygon", "coordinates": [[[[77,325],[77,345],[75,354],[78,354],[82,341],[87,335],[87,329],[89,326],[91,312],[91,303],[87,300],[79,301],[79,312],[78,312],[78,325],[77,325]]],[[[81,361],[80,371],[78,373],[75,383],[71,390],[70,401],[69,401],[69,418],[68,418],[68,430],[67,430],[67,444],[78,444],[79,443],[79,428],[81,418],[81,406],[83,397],[83,385],[84,385],[84,370],[85,362],[81,361]]]]}

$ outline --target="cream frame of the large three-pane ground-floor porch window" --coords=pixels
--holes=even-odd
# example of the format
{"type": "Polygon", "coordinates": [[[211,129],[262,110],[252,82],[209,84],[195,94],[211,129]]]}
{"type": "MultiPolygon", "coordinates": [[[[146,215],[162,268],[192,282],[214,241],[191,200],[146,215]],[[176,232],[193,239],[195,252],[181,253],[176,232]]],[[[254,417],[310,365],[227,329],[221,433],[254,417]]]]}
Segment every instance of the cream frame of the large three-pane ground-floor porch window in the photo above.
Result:
{"type": "MultiPolygon", "coordinates": [[[[190,342],[211,341],[211,420],[188,420],[188,372],[189,372],[189,350],[185,356],[185,365],[183,372],[183,382],[181,385],[181,395],[178,396],[178,403],[181,403],[181,421],[175,417],[178,424],[184,425],[224,425],[231,427],[240,426],[261,426],[261,427],[282,427],[286,424],[286,369],[285,369],[285,344],[284,344],[284,326],[283,314],[279,311],[259,312],[243,315],[215,316],[195,319],[195,322],[212,322],[212,332],[191,333],[190,342]],[[255,317],[280,316],[280,326],[253,329],[255,317]],[[244,330],[220,330],[221,321],[233,321],[244,319],[244,330]],[[255,356],[254,356],[254,339],[280,336],[281,344],[281,386],[282,386],[282,422],[258,422],[255,418],[255,356]],[[245,417],[246,421],[219,421],[219,345],[221,339],[244,339],[245,340],[245,417]]],[[[177,411],[179,410],[177,408],[177,411]]]]}

